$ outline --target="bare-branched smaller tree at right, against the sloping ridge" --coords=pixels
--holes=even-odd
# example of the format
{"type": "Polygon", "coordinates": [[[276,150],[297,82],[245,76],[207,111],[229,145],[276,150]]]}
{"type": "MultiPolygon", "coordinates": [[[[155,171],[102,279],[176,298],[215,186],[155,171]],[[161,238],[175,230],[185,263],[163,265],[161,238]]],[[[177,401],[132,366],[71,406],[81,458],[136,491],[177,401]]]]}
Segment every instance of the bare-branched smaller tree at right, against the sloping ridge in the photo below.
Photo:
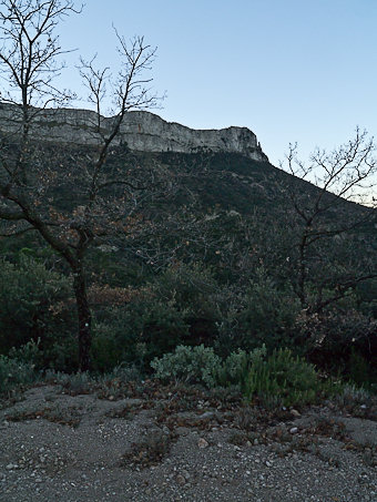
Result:
{"type": "Polygon", "coordinates": [[[294,233],[286,265],[302,308],[309,313],[320,313],[360,283],[377,277],[374,154],[373,139],[357,129],[355,137],[337,150],[317,148],[308,164],[298,158],[297,146],[289,145],[286,162],[281,164],[293,176],[316,185],[304,191],[292,178],[283,187],[289,195],[293,212],[287,217],[294,233]]]}

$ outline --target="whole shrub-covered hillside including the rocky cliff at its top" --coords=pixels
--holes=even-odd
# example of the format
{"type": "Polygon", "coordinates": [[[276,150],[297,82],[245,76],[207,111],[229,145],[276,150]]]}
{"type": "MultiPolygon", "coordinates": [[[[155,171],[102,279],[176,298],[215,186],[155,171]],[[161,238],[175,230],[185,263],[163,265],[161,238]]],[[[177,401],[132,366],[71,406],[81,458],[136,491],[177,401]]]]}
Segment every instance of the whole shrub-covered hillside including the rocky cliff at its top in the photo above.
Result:
{"type": "MultiPolygon", "coordinates": [[[[251,131],[195,132],[137,113],[99,171],[92,112],[58,111],[54,123],[51,115],[34,126],[14,197],[30,202],[27,222],[41,232],[2,222],[16,235],[0,239],[1,351],[41,339],[43,366],[77,368],[80,267],[96,370],[137,360],[150,371],[153,357],[180,344],[204,342],[222,356],[264,344],[327,369],[360,357],[355,378],[369,379],[376,212],[274,167],[251,131]],[[135,117],[143,126],[128,135],[135,117]]],[[[10,163],[20,153],[18,125],[16,115],[3,130],[10,163]]]]}

